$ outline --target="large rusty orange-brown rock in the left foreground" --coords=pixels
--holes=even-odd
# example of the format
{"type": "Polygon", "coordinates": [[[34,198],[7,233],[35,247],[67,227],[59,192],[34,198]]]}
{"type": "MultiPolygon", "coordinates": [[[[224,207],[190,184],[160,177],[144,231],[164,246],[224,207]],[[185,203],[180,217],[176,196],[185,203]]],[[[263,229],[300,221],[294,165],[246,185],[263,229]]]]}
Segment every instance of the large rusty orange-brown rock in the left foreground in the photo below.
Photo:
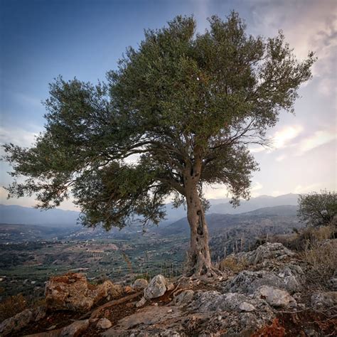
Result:
{"type": "Polygon", "coordinates": [[[114,299],[122,292],[122,287],[111,281],[94,286],[87,282],[85,275],[70,273],[51,277],[45,294],[48,308],[88,311],[98,301],[108,297],[114,299]]]}

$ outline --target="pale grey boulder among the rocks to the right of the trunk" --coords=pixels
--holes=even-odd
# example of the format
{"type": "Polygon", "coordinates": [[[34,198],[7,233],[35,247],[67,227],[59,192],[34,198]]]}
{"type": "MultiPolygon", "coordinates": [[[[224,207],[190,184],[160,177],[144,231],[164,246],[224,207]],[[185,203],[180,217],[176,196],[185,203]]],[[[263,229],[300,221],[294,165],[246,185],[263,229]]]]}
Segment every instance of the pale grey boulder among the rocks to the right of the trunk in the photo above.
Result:
{"type": "Polygon", "coordinates": [[[262,286],[255,291],[255,296],[277,308],[294,308],[297,305],[294,297],[290,296],[287,291],[275,287],[262,286]]]}

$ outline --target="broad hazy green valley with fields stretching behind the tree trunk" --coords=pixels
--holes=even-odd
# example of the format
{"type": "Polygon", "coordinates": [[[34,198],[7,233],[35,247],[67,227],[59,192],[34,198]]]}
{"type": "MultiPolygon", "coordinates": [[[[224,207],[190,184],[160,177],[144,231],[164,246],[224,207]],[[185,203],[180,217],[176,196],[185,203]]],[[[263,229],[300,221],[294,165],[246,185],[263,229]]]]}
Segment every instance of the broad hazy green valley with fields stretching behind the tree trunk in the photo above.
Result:
{"type": "MultiPolygon", "coordinates": [[[[257,240],[301,228],[296,206],[247,213],[207,215],[214,262],[251,250],[257,240]]],[[[101,228],[0,224],[0,296],[43,296],[51,275],[83,272],[90,282],[132,282],[143,276],[181,274],[189,242],[186,218],[143,228],[139,223],[106,232],[101,228]]]]}

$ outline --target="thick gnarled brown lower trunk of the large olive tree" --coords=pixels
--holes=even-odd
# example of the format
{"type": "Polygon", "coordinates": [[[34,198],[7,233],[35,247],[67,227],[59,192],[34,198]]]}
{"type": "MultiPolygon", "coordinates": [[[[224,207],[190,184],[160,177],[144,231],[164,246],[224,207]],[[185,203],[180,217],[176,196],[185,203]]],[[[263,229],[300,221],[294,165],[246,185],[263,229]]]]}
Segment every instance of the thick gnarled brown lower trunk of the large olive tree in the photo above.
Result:
{"type": "Polygon", "coordinates": [[[196,186],[189,186],[186,193],[187,218],[191,228],[191,244],[188,250],[186,276],[215,276],[217,274],[210,262],[208,247],[208,228],[205,212],[196,186]]]}

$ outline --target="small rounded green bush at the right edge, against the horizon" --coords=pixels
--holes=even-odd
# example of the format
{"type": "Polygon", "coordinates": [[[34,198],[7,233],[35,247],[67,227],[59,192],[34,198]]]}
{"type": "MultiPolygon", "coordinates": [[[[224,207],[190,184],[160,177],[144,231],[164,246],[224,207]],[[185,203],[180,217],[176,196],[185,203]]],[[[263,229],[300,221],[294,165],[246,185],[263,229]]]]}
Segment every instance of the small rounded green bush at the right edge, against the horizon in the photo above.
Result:
{"type": "Polygon", "coordinates": [[[336,222],[337,193],[321,191],[299,196],[298,215],[303,222],[315,227],[336,222]]]}

